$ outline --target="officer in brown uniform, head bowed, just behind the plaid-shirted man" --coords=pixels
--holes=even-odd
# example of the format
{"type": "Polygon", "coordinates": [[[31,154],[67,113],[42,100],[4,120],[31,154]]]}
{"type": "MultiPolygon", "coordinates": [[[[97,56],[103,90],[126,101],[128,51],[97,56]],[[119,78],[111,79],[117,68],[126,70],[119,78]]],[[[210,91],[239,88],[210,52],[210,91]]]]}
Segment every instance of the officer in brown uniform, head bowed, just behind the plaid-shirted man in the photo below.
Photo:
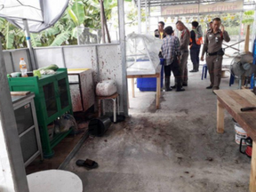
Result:
{"type": "MultiPolygon", "coordinates": [[[[176,22],[176,28],[180,30],[180,73],[182,86],[188,86],[188,44],[190,33],[188,28],[180,20],[176,22]]],[[[174,88],[172,86],[172,88],[174,88]]]]}

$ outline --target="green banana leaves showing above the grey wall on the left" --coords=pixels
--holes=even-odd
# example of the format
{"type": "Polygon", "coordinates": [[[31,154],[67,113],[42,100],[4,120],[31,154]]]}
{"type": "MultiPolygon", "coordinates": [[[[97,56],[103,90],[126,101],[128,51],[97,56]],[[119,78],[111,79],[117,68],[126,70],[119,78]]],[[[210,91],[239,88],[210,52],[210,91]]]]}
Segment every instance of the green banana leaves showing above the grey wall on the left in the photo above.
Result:
{"type": "MultiPolygon", "coordinates": [[[[111,17],[111,10],[116,6],[116,0],[104,0],[107,20],[111,17]]],[[[32,46],[77,44],[76,27],[101,28],[100,3],[98,0],[71,0],[68,9],[52,28],[37,34],[31,33],[32,46]]],[[[27,47],[24,31],[2,18],[0,18],[0,31],[4,35],[2,38],[3,49],[27,47]]]]}

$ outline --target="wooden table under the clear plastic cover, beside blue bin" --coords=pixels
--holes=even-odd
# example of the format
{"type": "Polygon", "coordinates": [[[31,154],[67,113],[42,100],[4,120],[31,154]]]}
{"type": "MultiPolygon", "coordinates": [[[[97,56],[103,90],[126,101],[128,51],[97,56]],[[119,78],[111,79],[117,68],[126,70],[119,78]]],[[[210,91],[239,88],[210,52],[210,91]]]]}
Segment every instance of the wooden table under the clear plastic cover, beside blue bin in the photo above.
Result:
{"type": "Polygon", "coordinates": [[[132,97],[135,97],[134,92],[134,78],[148,78],[148,77],[156,77],[156,109],[160,106],[160,97],[161,97],[161,74],[156,73],[153,75],[128,75],[127,78],[132,78],[132,97]]]}

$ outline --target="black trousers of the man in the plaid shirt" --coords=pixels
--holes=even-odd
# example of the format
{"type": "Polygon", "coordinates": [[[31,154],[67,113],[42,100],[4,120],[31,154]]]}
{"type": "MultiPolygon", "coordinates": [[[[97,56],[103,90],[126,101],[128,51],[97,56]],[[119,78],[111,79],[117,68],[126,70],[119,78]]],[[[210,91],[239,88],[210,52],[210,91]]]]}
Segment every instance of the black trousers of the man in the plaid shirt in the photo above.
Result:
{"type": "Polygon", "coordinates": [[[175,76],[175,84],[181,86],[181,72],[178,60],[173,60],[171,65],[164,66],[164,76],[171,76],[171,71],[172,74],[175,76]]]}

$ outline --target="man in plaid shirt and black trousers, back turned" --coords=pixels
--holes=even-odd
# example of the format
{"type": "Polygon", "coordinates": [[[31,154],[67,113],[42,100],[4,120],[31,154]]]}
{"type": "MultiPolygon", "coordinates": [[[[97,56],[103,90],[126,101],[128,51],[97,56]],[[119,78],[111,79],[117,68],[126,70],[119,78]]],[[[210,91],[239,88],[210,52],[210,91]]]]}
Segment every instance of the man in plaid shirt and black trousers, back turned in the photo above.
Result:
{"type": "Polygon", "coordinates": [[[183,92],[182,88],[180,67],[179,67],[179,55],[180,55],[180,41],[177,36],[172,36],[173,30],[171,26],[164,28],[164,32],[167,35],[163,39],[161,46],[162,55],[164,57],[164,85],[165,92],[172,91],[170,87],[171,71],[177,80],[176,92],[183,92]]]}

